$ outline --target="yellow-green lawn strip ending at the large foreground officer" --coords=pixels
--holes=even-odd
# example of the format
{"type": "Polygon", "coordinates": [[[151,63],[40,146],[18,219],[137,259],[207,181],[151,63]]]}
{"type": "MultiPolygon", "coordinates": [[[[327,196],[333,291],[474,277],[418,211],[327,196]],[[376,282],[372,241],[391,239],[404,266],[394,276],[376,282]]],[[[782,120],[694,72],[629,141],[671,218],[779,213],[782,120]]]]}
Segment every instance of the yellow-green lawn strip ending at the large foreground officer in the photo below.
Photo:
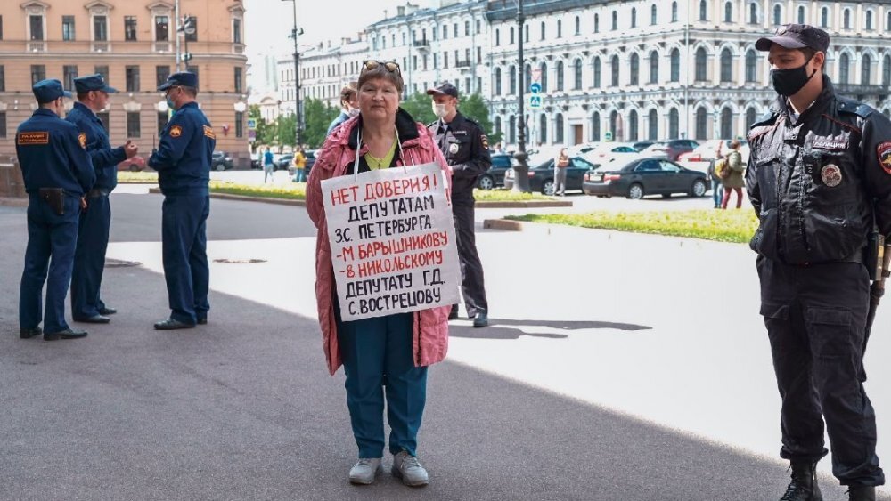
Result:
{"type": "Polygon", "coordinates": [[[583,228],[654,233],[674,237],[703,238],[719,242],[747,243],[758,227],[751,210],[689,210],[662,212],[593,212],[588,214],[526,214],[507,219],[568,224],[583,228]]]}

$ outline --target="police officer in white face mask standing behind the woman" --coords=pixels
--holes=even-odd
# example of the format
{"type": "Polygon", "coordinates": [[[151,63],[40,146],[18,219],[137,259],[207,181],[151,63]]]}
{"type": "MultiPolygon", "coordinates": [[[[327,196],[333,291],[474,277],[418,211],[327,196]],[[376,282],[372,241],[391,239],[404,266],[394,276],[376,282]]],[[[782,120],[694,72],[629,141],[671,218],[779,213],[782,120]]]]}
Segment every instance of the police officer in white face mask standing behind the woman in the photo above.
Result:
{"type": "MultiPolygon", "coordinates": [[[[458,89],[454,85],[443,82],[427,93],[433,96],[433,112],[439,117],[427,127],[436,135],[439,149],[452,166],[452,214],[461,261],[464,306],[467,316],[473,319],[473,327],[486,327],[489,304],[473,230],[473,188],[479,174],[492,166],[488,139],[478,123],[458,111],[458,89]]],[[[457,316],[456,304],[449,318],[457,316]]]]}

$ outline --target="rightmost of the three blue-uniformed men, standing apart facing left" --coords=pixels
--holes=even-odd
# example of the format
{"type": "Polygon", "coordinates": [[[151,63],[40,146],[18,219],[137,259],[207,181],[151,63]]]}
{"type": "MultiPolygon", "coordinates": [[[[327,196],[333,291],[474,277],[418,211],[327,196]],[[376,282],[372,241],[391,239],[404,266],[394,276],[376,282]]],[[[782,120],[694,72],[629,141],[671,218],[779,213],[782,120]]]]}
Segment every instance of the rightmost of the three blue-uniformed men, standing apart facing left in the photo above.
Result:
{"type": "Polygon", "coordinates": [[[164,194],[161,240],[170,318],[159,330],[195,327],[208,321],[208,238],[210,158],[217,136],[198,109],[198,77],[183,71],[158,87],[176,110],[161,131],[149,166],[158,171],[164,194]]]}

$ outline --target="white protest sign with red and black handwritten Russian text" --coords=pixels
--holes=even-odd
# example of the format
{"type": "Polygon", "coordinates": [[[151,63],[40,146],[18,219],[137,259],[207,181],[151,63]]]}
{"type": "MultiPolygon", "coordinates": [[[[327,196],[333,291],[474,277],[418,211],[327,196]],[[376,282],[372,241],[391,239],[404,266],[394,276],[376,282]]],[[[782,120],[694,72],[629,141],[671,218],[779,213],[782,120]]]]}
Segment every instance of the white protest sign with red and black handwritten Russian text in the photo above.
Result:
{"type": "Polygon", "coordinates": [[[452,207],[437,163],[322,182],[340,318],[458,303],[452,207]]]}

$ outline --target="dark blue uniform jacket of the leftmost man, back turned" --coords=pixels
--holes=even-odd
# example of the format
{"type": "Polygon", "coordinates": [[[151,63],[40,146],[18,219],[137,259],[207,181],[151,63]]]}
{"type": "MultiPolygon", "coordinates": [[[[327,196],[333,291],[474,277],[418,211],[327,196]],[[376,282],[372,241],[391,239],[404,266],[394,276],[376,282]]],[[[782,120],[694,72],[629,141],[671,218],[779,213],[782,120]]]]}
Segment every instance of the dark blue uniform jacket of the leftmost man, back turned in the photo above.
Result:
{"type": "Polygon", "coordinates": [[[83,197],[96,181],[85,148],[86,136],[77,125],[49,109],[35,110],[15,133],[25,190],[37,194],[41,188],[61,188],[73,197],[83,197]]]}

